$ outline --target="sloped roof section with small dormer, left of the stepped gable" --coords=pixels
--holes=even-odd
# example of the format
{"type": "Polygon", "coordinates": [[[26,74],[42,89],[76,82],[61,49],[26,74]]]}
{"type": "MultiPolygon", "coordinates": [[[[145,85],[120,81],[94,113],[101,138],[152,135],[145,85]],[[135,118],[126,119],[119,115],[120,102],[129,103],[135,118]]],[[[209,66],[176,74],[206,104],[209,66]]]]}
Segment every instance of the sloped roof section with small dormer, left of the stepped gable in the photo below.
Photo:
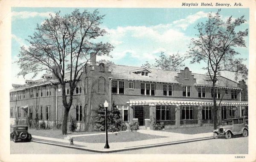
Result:
{"type": "Polygon", "coordinates": [[[111,77],[113,78],[122,78],[129,80],[145,80],[153,82],[172,82],[179,83],[175,80],[177,76],[177,71],[166,71],[154,68],[140,68],[135,66],[125,66],[125,65],[109,65],[109,71],[111,71],[111,77]],[[141,76],[141,74],[135,74],[134,71],[140,71],[148,69],[151,71],[149,76],[141,76]]]}

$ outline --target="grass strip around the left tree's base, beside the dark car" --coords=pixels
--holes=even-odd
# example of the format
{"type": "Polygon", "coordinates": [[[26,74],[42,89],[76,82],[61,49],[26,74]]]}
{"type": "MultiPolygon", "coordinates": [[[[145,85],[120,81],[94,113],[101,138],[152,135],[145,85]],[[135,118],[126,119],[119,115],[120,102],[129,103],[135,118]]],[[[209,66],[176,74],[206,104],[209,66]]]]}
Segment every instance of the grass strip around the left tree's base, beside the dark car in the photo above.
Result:
{"type": "Polygon", "coordinates": [[[78,134],[95,134],[95,133],[104,133],[104,132],[71,132],[67,135],[62,135],[61,129],[29,129],[28,130],[30,134],[35,136],[45,136],[50,138],[59,138],[63,139],[67,135],[78,135],[78,134]]]}

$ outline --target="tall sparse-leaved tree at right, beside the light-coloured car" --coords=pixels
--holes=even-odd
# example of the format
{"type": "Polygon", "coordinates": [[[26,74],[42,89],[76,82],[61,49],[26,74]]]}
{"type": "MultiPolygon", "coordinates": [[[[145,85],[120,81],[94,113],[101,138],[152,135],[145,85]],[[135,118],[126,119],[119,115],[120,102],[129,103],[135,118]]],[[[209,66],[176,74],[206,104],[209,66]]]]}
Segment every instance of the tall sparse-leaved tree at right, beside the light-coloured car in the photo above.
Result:
{"type": "MultiPolygon", "coordinates": [[[[198,23],[195,27],[198,30],[196,39],[192,39],[189,45],[188,56],[191,63],[206,63],[207,74],[212,81],[213,94],[215,94],[215,83],[217,76],[224,71],[231,71],[247,79],[248,69],[243,64],[245,59],[237,58],[239,52],[234,47],[246,47],[244,37],[248,35],[248,29],[237,31],[236,27],[245,23],[244,16],[232,20],[229,17],[226,21],[221,19],[219,14],[209,13],[205,23],[198,23]]],[[[214,128],[217,127],[216,97],[213,95],[213,121],[214,128]]]]}

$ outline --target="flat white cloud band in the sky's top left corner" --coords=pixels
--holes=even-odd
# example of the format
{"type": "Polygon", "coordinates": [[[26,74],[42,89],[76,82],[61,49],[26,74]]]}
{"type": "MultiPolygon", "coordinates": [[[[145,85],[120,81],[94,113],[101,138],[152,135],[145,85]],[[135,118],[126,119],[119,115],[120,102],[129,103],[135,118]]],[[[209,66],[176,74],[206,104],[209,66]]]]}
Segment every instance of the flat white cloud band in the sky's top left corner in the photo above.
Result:
{"type": "Polygon", "coordinates": [[[29,12],[29,11],[12,11],[12,18],[20,18],[20,19],[27,19],[30,17],[49,17],[49,14],[54,15],[53,12],[29,12]]]}

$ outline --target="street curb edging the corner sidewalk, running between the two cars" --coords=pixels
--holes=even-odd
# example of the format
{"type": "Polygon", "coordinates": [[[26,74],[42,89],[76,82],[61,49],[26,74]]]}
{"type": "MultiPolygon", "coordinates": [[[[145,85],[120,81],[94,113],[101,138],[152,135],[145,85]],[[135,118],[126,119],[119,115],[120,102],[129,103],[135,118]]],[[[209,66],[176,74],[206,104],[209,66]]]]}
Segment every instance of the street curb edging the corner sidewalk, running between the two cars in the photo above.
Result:
{"type": "Polygon", "coordinates": [[[151,145],[143,145],[143,146],[132,146],[132,147],[120,148],[120,149],[114,149],[114,150],[97,150],[97,149],[90,149],[90,148],[81,148],[81,147],[76,147],[76,146],[61,145],[61,144],[50,143],[50,142],[41,142],[41,141],[36,141],[36,140],[32,140],[32,142],[43,143],[43,144],[47,144],[47,145],[56,145],[56,146],[61,146],[61,147],[65,147],[65,148],[74,148],[77,150],[84,150],[84,151],[90,151],[90,152],[96,152],[96,153],[114,153],[114,152],[121,152],[121,151],[138,150],[138,149],[143,149],[143,148],[154,148],[154,147],[160,147],[160,146],[166,146],[166,145],[176,145],[176,144],[181,144],[181,143],[203,141],[203,140],[208,140],[208,139],[213,139],[213,137],[189,139],[189,140],[183,140],[183,141],[177,141],[177,142],[167,142],[167,143],[151,144],[151,145]]]}

